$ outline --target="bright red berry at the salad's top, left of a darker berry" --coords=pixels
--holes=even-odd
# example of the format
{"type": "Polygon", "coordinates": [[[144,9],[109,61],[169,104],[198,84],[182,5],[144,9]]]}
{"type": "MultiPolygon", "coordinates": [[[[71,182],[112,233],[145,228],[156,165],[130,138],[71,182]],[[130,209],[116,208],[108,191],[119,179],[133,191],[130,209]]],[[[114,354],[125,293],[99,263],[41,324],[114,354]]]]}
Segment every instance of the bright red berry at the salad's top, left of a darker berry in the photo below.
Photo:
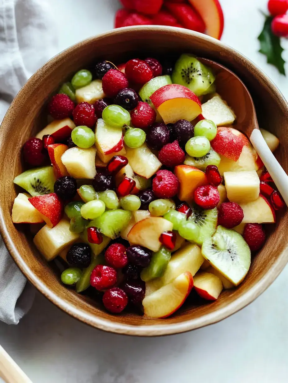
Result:
{"type": "Polygon", "coordinates": [[[125,66],[127,79],[135,84],[144,85],[153,77],[153,70],[150,65],[140,59],[129,60],[125,66]]]}

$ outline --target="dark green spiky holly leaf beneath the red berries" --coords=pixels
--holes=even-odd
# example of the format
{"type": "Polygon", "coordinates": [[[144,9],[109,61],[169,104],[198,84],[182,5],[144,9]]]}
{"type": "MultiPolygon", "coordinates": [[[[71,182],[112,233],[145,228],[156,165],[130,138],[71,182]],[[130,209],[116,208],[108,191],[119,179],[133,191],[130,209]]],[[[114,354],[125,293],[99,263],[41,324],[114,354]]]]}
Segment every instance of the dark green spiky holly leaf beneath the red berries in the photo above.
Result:
{"type": "Polygon", "coordinates": [[[271,30],[271,22],[273,20],[272,16],[265,16],[266,20],[262,32],[258,36],[260,41],[260,53],[267,56],[268,64],[274,65],[281,74],[285,75],[284,64],[281,54],[284,49],[281,47],[280,38],[275,36],[271,30]]]}

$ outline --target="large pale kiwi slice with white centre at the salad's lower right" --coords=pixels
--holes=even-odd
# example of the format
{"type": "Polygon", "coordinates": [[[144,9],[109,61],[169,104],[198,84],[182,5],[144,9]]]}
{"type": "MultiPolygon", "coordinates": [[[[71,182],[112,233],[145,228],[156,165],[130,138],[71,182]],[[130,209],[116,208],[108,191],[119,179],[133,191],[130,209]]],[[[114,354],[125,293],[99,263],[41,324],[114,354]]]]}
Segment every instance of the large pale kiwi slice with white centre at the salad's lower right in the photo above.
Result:
{"type": "Polygon", "coordinates": [[[203,242],[202,254],[235,286],[242,282],[251,264],[251,251],[241,234],[223,226],[203,242]]]}

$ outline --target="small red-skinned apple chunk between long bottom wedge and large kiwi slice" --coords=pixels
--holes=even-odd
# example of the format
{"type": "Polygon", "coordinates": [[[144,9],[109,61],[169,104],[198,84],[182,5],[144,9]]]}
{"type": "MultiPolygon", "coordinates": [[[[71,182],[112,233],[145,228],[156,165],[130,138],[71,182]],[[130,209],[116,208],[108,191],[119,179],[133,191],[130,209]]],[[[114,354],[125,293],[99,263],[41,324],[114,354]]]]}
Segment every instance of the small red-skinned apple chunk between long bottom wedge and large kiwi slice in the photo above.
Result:
{"type": "Polygon", "coordinates": [[[202,298],[216,301],[223,290],[223,285],[215,274],[199,272],[194,276],[194,289],[202,298]]]}

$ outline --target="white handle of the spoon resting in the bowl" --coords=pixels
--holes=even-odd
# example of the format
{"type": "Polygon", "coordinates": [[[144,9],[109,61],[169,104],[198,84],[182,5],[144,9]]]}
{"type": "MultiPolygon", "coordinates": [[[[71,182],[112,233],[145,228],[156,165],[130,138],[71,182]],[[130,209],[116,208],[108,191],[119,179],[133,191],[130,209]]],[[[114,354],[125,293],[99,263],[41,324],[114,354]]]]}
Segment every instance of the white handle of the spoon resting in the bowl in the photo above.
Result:
{"type": "Polygon", "coordinates": [[[250,141],[288,206],[288,175],[270,151],[259,129],[252,131],[250,141]]]}

